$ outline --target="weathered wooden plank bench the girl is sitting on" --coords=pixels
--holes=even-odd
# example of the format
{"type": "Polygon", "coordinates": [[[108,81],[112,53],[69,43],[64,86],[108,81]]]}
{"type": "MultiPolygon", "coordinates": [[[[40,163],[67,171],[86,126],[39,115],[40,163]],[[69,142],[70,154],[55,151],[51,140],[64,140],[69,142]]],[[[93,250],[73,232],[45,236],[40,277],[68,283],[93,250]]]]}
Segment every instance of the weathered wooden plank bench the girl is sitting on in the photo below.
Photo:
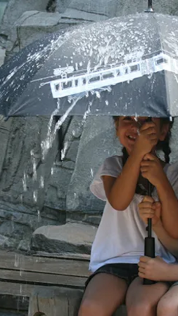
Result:
{"type": "MultiPolygon", "coordinates": [[[[24,256],[6,251],[0,251],[0,256],[0,308],[28,316],[77,316],[89,276],[89,258],[24,256]]],[[[126,316],[125,306],[115,316],[126,316]]]]}

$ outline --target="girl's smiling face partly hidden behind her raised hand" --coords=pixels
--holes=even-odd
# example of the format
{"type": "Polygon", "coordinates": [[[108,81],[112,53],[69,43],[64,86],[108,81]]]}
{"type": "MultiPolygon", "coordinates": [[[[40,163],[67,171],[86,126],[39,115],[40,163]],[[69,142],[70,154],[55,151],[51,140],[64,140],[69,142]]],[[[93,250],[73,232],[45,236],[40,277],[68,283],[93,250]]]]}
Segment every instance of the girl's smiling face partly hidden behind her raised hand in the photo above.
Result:
{"type": "MultiPolygon", "coordinates": [[[[115,120],[117,137],[128,154],[133,150],[136,138],[139,136],[139,129],[145,123],[148,117],[118,117],[115,120]]],[[[153,118],[158,140],[164,140],[169,129],[168,124],[160,126],[160,119],[153,118]]]]}

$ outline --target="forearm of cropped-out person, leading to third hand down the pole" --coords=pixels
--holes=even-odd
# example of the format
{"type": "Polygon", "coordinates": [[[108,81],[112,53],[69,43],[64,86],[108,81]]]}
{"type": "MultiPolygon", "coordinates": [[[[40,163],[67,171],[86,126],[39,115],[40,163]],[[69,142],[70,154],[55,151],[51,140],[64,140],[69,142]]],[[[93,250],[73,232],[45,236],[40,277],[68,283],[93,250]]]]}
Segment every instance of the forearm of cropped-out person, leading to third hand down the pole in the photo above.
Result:
{"type": "Polygon", "coordinates": [[[153,230],[163,246],[165,246],[171,254],[178,257],[178,239],[170,237],[165,228],[163,228],[163,224],[161,222],[153,226],[153,230]]]}

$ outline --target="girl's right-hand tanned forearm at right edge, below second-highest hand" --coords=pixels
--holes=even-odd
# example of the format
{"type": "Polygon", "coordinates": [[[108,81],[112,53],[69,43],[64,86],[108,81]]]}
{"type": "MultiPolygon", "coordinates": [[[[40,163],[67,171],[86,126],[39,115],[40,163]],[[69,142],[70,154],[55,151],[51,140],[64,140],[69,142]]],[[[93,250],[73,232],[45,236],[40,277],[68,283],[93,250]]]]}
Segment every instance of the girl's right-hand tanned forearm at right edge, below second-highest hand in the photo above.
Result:
{"type": "Polygon", "coordinates": [[[178,238],[178,200],[174,190],[166,176],[156,188],[162,204],[163,226],[171,237],[178,238]]]}

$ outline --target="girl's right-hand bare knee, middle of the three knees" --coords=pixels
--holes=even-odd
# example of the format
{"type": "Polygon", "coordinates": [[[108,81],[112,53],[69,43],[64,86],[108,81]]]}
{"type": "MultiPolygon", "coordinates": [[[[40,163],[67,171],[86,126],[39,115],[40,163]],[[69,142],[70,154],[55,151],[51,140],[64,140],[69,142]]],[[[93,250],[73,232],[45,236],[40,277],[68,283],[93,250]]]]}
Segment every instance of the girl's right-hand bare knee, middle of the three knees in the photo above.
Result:
{"type": "Polygon", "coordinates": [[[153,315],[153,306],[150,302],[136,302],[129,307],[127,307],[127,316],[151,316],[153,315]]]}

